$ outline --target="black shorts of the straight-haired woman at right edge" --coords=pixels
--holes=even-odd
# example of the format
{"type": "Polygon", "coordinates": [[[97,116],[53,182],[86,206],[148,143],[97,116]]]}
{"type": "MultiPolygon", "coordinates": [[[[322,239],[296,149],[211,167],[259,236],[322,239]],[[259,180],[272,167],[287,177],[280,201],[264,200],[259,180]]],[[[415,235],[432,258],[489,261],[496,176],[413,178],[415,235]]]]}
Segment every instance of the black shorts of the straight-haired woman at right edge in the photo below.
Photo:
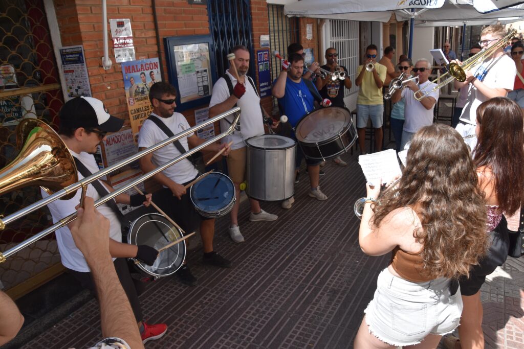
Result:
{"type": "Polygon", "coordinates": [[[498,226],[489,232],[492,244],[489,246],[487,255],[474,265],[470,271],[470,277],[459,279],[462,296],[473,296],[484,284],[486,276],[493,273],[499,265],[503,265],[508,258],[509,238],[508,223],[506,218],[498,226]]]}

